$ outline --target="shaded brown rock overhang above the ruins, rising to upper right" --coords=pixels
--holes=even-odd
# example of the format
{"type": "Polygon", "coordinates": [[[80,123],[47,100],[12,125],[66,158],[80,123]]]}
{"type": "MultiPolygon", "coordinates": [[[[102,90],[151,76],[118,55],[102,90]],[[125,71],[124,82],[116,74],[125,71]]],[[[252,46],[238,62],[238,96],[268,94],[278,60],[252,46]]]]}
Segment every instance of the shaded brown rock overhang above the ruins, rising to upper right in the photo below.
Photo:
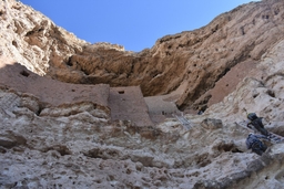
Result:
{"type": "Polygon", "coordinates": [[[264,1],[247,7],[250,10],[239,7],[232,13],[224,13],[202,29],[164,36],[152,49],[140,53],[88,49],[70,57],[71,69],[81,67],[87,75],[81,80],[84,82],[141,85],[145,96],[168,94],[185,81],[187,86],[176,99],[185,108],[231,67],[243,61],[260,60],[266,49],[283,38],[281,12],[274,13],[274,9],[283,7],[282,2],[264,1]]]}

